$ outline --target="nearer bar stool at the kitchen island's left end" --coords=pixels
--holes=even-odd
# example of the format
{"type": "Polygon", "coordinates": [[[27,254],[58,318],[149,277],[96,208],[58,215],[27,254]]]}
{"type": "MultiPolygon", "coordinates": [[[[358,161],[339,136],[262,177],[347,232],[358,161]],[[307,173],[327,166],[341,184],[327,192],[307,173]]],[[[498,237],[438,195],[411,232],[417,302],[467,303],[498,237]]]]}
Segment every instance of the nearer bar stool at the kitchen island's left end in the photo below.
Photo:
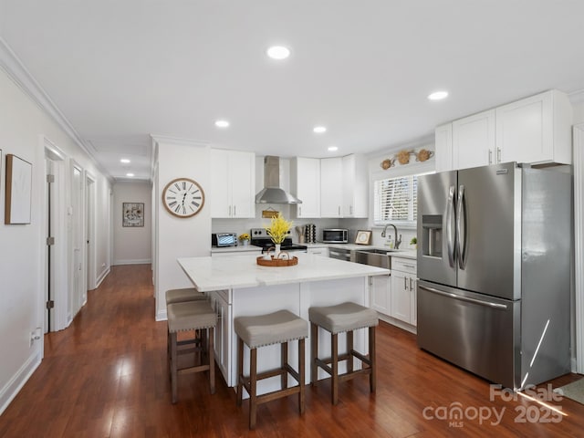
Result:
{"type": "Polygon", "coordinates": [[[214,327],[217,325],[217,314],[211,304],[206,301],[186,301],[183,303],[169,304],[166,307],[168,316],[168,344],[170,349],[170,369],[172,403],[177,400],[177,379],[179,374],[191,372],[209,371],[209,387],[211,393],[215,392],[215,367],[214,367],[214,327]],[[193,331],[194,337],[208,338],[208,342],[201,339],[189,339],[178,341],[177,333],[180,331],[193,331]],[[206,332],[206,333],[205,333],[206,332]],[[178,368],[179,354],[194,351],[192,349],[180,349],[183,344],[199,345],[198,349],[203,350],[201,363],[190,367],[178,368]],[[206,349],[204,348],[206,346],[206,349]],[[206,360],[203,360],[206,359],[206,360]],[[204,362],[204,363],[203,363],[204,362]]]}

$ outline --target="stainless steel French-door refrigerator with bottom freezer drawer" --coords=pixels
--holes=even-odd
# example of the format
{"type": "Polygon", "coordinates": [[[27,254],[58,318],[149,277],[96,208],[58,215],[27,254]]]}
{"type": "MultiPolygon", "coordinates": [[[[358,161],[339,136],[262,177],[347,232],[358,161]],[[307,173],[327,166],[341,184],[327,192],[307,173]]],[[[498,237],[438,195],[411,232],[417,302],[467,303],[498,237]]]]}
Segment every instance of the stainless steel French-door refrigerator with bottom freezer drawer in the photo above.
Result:
{"type": "Polygon", "coordinates": [[[520,390],[570,370],[571,176],[515,162],[418,179],[418,345],[520,390]]]}

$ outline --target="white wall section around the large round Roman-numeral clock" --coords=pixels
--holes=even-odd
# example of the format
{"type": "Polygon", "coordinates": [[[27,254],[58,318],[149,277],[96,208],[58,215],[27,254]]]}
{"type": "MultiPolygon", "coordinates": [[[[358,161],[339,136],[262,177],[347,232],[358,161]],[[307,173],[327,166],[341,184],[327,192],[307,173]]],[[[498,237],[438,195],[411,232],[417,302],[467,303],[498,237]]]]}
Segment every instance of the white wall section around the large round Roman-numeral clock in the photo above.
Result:
{"type": "Polygon", "coordinates": [[[168,289],[193,287],[191,280],[177,263],[178,257],[210,255],[211,215],[208,204],[196,215],[176,217],[166,211],[161,199],[162,189],[179,177],[191,178],[201,185],[203,192],[209,187],[211,159],[210,148],[193,141],[156,138],[158,175],[154,182],[157,224],[155,225],[158,255],[154,264],[156,319],[166,318],[164,293],[168,289]]]}

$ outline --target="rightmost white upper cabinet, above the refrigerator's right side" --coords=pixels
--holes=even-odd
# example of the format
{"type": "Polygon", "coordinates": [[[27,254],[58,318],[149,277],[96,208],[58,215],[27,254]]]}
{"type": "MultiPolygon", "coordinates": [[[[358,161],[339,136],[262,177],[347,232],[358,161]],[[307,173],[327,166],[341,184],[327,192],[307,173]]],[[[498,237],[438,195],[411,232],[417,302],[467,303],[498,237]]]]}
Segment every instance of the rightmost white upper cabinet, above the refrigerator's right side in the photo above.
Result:
{"type": "Polygon", "coordinates": [[[550,90],[498,107],[495,119],[501,162],[572,162],[572,106],[564,93],[550,90]]]}

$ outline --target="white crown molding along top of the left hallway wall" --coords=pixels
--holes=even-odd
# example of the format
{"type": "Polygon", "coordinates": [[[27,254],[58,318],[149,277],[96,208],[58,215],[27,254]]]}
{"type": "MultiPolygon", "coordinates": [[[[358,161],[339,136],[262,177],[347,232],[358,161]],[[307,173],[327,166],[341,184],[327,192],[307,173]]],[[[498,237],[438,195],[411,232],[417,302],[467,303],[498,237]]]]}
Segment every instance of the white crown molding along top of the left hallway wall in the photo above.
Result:
{"type": "Polygon", "coordinates": [[[0,36],[0,68],[2,68],[8,78],[10,78],[19,89],[21,89],[26,96],[32,99],[38,108],[45,111],[51,119],[57,122],[57,125],[64,130],[67,135],[78,145],[81,151],[84,151],[89,156],[89,160],[99,169],[110,183],[114,179],[110,172],[105,170],[101,164],[96,160],[93,153],[91,153],[83,140],[79,136],[77,130],[69,123],[65,115],[57,108],[57,105],[48,96],[47,92],[40,86],[36,79],[26,69],[22,61],[16,56],[16,53],[8,46],[4,38],[0,36]]]}

